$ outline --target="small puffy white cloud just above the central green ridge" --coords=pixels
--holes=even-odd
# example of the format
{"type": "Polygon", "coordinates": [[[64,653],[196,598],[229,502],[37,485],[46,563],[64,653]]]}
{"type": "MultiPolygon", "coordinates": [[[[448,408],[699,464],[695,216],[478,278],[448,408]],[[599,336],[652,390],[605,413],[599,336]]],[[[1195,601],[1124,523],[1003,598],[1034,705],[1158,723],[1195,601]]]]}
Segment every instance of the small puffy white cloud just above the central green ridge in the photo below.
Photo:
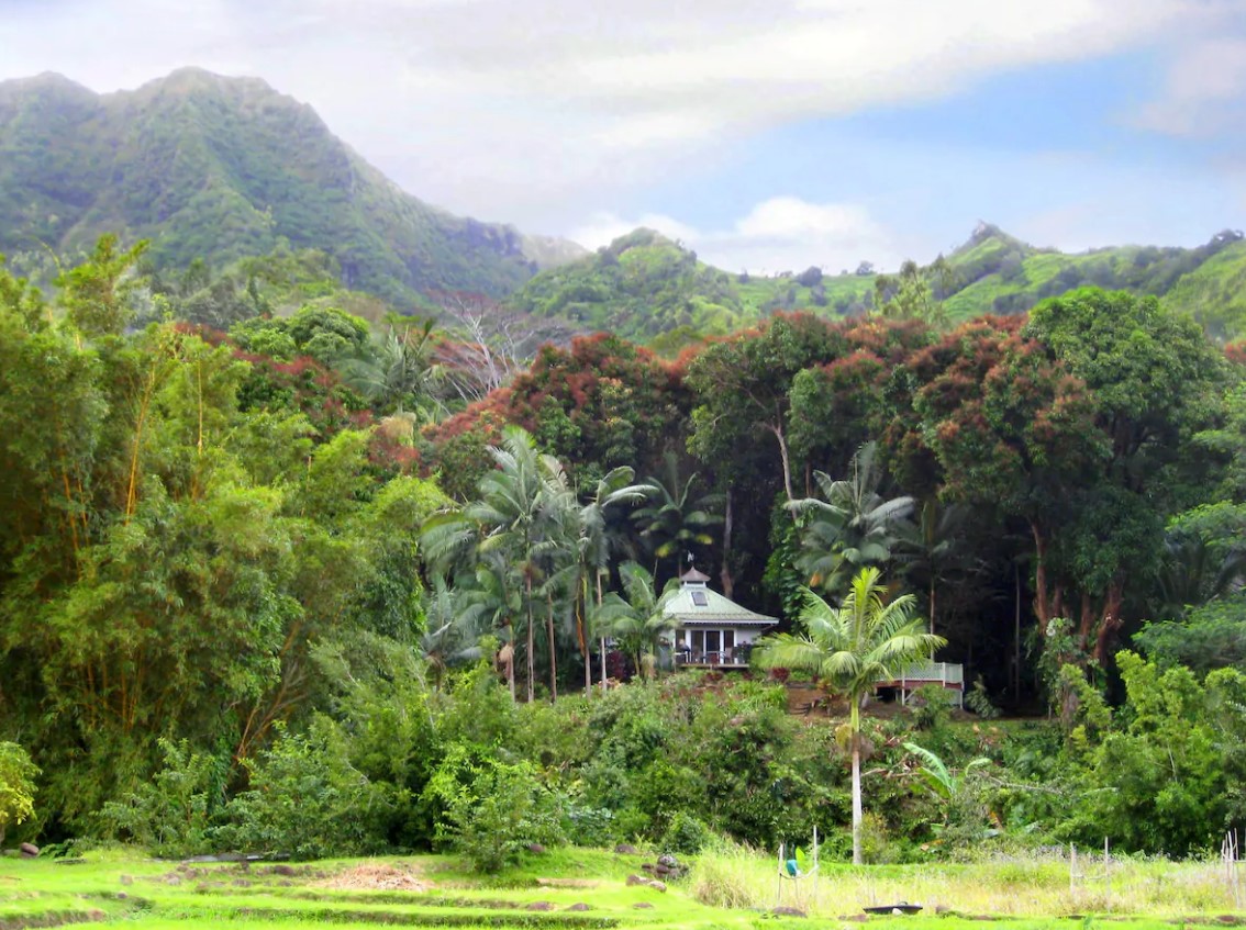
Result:
{"type": "Polygon", "coordinates": [[[606,245],[637,227],[655,229],[694,249],[718,268],[759,274],[801,271],[810,265],[832,273],[867,259],[882,268],[900,261],[896,237],[855,204],[809,203],[773,197],[755,204],[723,229],[697,229],[672,217],[644,214],[624,219],[599,213],[573,229],[571,238],[588,248],[606,245]]]}

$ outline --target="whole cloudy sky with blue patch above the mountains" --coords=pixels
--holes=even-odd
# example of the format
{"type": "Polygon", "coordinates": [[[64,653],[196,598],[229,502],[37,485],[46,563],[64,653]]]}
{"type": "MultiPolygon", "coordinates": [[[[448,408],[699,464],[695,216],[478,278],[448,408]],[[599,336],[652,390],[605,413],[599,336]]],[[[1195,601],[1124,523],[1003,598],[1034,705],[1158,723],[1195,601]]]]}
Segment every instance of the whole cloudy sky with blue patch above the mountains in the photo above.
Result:
{"type": "Polygon", "coordinates": [[[1246,0],[0,0],[0,80],[187,65],[454,213],[728,270],[1246,225],[1246,0]]]}

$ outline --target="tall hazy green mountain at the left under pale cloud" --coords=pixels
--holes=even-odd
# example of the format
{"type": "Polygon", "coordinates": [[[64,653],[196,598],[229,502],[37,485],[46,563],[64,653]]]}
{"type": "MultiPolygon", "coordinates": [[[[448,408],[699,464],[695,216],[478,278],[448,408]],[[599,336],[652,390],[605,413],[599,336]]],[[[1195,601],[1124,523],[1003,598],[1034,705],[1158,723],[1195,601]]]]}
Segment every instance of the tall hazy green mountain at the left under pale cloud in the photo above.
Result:
{"type": "Polygon", "coordinates": [[[336,259],[346,286],[397,303],[512,291],[582,254],[404,193],[315,111],[258,78],[183,68],[96,95],[47,73],[0,82],[0,253],[148,238],[157,264],[222,266],[280,238],[336,259]]]}

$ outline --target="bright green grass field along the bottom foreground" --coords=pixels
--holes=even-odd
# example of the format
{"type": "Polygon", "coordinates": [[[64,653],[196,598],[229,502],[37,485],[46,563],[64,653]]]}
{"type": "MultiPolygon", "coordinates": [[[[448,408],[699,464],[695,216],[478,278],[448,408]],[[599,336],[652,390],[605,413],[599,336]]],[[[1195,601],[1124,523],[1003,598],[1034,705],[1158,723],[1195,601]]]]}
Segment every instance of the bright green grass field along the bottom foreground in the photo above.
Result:
{"type": "Polygon", "coordinates": [[[164,928],[849,928],[1007,930],[1246,924],[1219,864],[1083,858],[1070,881],[1058,859],[979,865],[824,864],[816,880],[778,878],[775,863],[725,849],[665,891],[628,885],[642,855],[554,850],[482,879],[442,857],[309,864],[168,863],[96,853],[83,860],[0,860],[0,930],[71,923],[164,928]],[[916,916],[863,906],[922,903],[916,916]],[[810,916],[776,916],[776,903],[810,916]]]}

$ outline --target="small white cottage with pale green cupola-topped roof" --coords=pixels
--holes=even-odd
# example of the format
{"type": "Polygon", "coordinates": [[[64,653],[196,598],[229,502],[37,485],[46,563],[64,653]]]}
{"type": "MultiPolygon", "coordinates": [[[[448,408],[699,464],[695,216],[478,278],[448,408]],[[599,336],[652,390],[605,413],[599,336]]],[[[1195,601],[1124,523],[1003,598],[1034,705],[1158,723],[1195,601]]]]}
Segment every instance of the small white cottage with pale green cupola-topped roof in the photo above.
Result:
{"type": "Polygon", "coordinates": [[[664,611],[679,621],[675,664],[709,669],[746,666],[753,644],[779,621],[711,591],[709,575],[695,568],[680,575],[679,581],[679,591],[667,601],[664,611]]]}

